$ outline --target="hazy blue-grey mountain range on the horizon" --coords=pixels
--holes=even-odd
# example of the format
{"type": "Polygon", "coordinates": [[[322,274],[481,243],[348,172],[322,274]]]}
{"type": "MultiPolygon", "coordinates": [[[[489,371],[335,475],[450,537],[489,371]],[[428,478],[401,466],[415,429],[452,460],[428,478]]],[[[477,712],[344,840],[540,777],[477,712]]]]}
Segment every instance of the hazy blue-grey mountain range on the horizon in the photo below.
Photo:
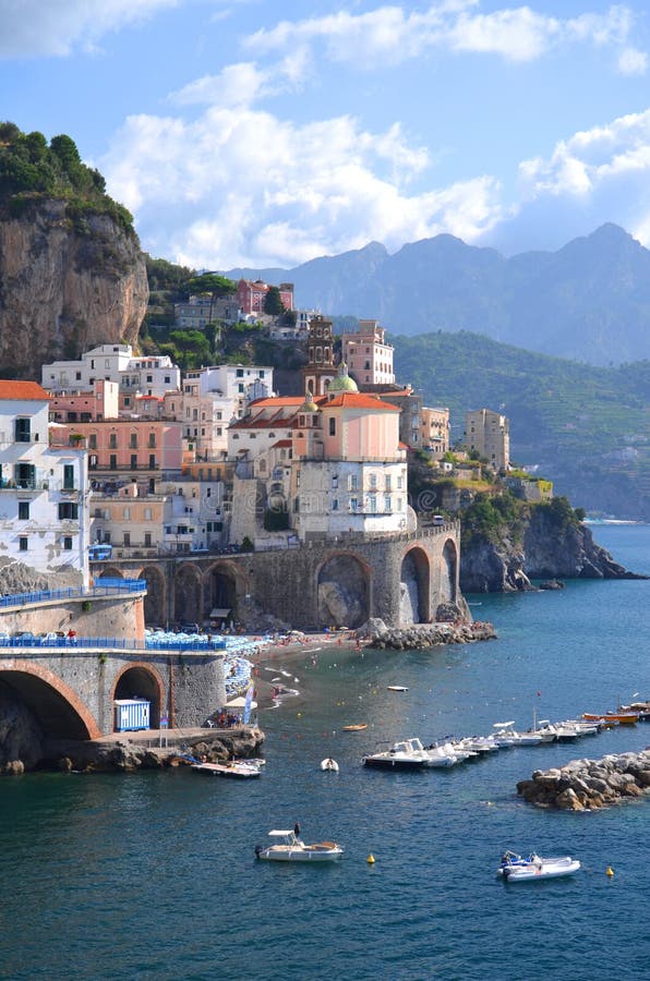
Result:
{"type": "Polygon", "coordinates": [[[505,257],[453,235],[378,242],[239,279],[293,282],[296,305],[377,319],[397,335],[466,330],[593,365],[650,359],[650,251],[616,225],[557,252],[505,257]]]}

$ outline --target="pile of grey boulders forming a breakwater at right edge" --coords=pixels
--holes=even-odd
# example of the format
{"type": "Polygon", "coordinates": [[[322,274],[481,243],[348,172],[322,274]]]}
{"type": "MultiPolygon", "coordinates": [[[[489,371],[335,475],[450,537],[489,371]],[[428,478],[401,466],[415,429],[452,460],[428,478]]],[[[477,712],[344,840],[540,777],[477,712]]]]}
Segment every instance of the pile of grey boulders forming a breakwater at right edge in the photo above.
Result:
{"type": "Polygon", "coordinates": [[[602,760],[571,760],[552,770],[535,770],[520,780],[517,794],[538,808],[592,811],[650,791],[650,749],[606,755],[602,760]]]}

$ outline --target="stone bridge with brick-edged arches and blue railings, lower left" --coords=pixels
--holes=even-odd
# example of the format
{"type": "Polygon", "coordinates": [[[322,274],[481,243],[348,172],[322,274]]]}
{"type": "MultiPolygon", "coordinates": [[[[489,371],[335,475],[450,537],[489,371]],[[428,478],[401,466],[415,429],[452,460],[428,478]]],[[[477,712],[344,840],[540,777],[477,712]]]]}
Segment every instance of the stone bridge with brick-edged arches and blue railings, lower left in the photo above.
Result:
{"type": "Polygon", "coordinates": [[[152,728],[201,726],[225,704],[222,651],[145,647],[145,594],[122,581],[2,597],[0,756],[17,715],[45,738],[94,739],[115,730],[116,699],[149,701],[152,728]]]}

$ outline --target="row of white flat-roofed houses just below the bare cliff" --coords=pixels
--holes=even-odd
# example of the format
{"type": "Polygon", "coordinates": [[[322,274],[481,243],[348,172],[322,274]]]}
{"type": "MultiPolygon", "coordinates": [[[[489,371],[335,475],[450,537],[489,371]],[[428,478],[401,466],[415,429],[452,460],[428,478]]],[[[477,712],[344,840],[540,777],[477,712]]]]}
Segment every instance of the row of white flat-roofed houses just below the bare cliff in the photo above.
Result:
{"type": "Polygon", "coordinates": [[[41,368],[48,391],[89,391],[98,378],[118,383],[122,395],[164,396],[178,391],[181,373],[167,354],[134,358],[131,344],[100,344],[80,361],[55,361],[41,368]]]}

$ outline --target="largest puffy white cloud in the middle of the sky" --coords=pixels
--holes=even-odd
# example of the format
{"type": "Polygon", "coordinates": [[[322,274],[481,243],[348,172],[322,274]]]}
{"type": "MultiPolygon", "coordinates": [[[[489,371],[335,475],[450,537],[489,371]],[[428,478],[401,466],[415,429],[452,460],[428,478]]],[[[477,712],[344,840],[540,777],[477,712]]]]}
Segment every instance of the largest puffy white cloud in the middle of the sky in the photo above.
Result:
{"type": "Polygon", "coordinates": [[[373,239],[388,249],[441,231],[471,241],[501,218],[501,189],[488,177],[409,194],[428,162],[398,125],[297,125],[213,106],[191,123],[130,118],[100,169],[134,211],[143,247],[226,269],[296,265],[373,239]]]}

